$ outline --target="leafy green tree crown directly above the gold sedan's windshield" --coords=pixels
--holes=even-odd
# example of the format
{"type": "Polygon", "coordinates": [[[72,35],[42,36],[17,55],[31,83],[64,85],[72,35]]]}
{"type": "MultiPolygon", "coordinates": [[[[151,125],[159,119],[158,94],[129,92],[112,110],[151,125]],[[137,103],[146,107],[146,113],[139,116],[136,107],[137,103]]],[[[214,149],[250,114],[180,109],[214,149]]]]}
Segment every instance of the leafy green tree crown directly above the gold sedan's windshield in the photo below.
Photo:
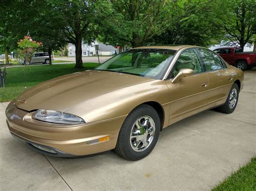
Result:
{"type": "Polygon", "coordinates": [[[166,0],[110,0],[110,4],[100,11],[99,23],[103,28],[103,41],[132,47],[145,44],[167,22],[160,18],[165,2],[166,0]]]}

